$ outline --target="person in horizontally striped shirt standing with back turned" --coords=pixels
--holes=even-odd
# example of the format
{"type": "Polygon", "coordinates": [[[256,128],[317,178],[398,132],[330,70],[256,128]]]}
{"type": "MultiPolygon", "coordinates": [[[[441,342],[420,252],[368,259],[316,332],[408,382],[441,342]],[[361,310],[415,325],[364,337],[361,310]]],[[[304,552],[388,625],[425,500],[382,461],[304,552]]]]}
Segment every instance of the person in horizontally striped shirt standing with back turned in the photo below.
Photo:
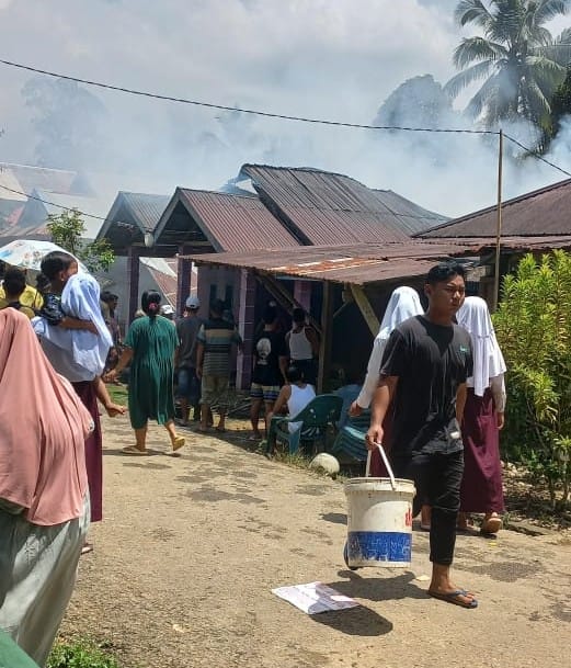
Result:
{"type": "Polygon", "coordinates": [[[216,431],[226,431],[228,389],[230,384],[230,352],[232,344],[242,349],[242,339],[233,324],[222,317],[225,305],[221,299],[210,304],[210,318],[204,322],[197,335],[196,375],[201,378],[201,427],[208,430],[208,416],[213,404],[218,407],[216,431]]]}

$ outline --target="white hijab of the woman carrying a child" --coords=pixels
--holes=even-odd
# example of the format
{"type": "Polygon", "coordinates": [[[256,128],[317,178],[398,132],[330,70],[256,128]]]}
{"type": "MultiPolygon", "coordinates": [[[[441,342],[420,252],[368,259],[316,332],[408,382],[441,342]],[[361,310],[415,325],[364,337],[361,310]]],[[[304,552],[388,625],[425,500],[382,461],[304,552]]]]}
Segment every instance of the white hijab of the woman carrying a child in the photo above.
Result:
{"type": "Polygon", "coordinates": [[[103,373],[109,349],[113,340],[100,306],[100,287],[95,279],[87,273],[77,273],[69,279],[61,293],[64,313],[80,320],[91,320],[99,335],[83,329],[65,329],[48,325],[44,318],[34,318],[35,332],[43,339],[71,353],[73,362],[96,376],[103,373]]]}

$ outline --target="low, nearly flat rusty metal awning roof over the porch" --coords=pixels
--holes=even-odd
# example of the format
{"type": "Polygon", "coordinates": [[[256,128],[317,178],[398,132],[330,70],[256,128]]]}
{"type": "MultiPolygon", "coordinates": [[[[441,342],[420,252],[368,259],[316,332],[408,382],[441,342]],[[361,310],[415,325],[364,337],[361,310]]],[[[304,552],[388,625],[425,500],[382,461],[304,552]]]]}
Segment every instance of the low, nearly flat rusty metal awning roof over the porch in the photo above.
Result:
{"type": "MultiPolygon", "coordinates": [[[[571,236],[549,239],[535,237],[503,239],[504,250],[548,250],[571,248],[571,236]]],[[[267,249],[248,253],[209,253],[189,256],[197,264],[222,264],[265,273],[318,279],[364,285],[424,275],[438,261],[454,257],[473,257],[488,251],[494,242],[488,238],[446,241],[408,240],[406,244],[359,244],[352,246],[304,246],[267,249]]]]}

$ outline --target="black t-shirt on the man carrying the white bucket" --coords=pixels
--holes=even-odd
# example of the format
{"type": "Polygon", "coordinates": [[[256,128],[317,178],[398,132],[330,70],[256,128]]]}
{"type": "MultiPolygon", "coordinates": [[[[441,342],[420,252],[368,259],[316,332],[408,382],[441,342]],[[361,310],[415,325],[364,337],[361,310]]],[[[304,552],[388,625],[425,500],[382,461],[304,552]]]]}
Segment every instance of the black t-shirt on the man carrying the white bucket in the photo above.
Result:
{"type": "Polygon", "coordinates": [[[381,376],[399,378],[390,408],[392,456],[462,450],[456,393],[472,366],[470,336],[458,325],[414,316],[393,330],[380,365],[381,376]]]}

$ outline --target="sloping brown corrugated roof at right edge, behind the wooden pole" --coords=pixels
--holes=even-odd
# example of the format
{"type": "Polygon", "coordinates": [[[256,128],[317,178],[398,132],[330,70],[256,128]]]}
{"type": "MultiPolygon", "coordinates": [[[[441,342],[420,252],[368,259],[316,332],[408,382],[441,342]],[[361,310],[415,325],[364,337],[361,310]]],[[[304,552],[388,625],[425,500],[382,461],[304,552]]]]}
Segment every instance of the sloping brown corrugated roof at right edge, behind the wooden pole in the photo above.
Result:
{"type": "MultiPolygon", "coordinates": [[[[541,188],[502,206],[502,234],[510,236],[571,235],[571,179],[541,188]]],[[[416,236],[423,238],[494,237],[498,207],[461,216],[416,236]]]]}

